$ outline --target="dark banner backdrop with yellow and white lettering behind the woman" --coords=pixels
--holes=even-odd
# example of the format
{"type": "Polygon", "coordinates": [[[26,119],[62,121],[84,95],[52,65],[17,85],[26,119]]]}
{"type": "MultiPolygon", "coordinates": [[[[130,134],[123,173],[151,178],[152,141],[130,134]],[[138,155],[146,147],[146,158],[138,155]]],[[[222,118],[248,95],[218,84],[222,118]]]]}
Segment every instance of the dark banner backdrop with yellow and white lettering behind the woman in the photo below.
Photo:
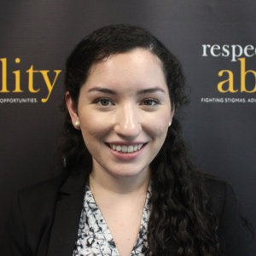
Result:
{"type": "Polygon", "coordinates": [[[145,27],[182,62],[191,89],[184,137],[201,170],[233,186],[255,229],[255,14],[254,0],[2,1],[0,230],[18,189],[57,174],[67,55],[116,23],[145,27]]]}

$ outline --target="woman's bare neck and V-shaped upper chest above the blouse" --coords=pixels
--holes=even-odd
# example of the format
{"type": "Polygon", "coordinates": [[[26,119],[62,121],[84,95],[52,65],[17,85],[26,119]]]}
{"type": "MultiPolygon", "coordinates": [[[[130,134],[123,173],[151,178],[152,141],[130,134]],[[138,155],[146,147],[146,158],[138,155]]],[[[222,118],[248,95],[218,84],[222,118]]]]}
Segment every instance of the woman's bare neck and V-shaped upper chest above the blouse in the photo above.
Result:
{"type": "Polygon", "coordinates": [[[149,183],[149,169],[144,171],[122,177],[94,168],[90,174],[90,190],[120,255],[130,255],[137,241],[149,183]]]}

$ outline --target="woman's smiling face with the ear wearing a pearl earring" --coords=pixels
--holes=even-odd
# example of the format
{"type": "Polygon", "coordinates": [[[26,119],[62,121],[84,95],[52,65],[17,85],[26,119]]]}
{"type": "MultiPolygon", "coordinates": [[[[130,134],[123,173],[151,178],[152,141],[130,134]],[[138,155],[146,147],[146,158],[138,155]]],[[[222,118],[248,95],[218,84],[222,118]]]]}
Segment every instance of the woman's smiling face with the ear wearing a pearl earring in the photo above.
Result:
{"type": "Polygon", "coordinates": [[[174,113],[160,60],[146,49],[96,63],[81,87],[77,108],[68,93],[67,108],[73,125],[80,122],[92,172],[114,177],[149,172],[174,113]]]}

